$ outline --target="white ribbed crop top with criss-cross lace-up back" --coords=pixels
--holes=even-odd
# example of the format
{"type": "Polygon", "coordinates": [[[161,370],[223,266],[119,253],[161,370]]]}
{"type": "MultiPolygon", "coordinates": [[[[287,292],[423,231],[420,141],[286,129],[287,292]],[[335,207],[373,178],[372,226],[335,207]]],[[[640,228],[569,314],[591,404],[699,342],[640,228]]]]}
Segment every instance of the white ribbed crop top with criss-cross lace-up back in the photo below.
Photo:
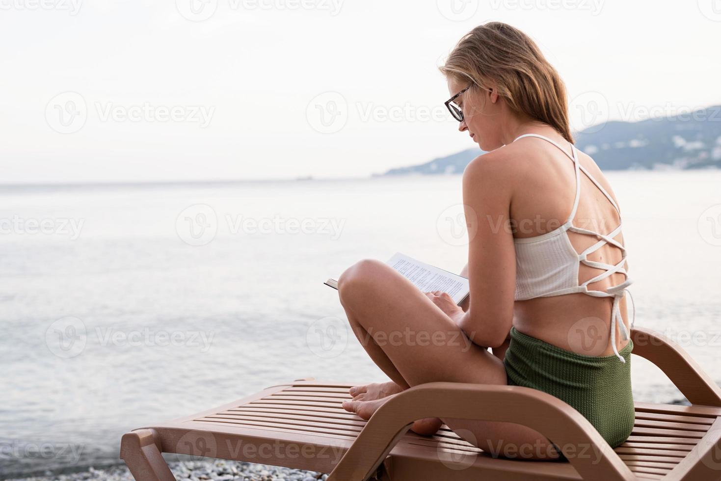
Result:
{"type": "MultiPolygon", "coordinates": [[[[621,335],[624,340],[629,339],[629,332],[624,325],[623,318],[621,316],[621,309],[619,307],[619,301],[628,292],[631,294],[627,287],[633,282],[627,275],[624,269],[624,263],[626,262],[626,248],[620,242],[616,242],[616,237],[621,232],[621,223],[609,234],[600,234],[598,232],[590,231],[588,229],[580,229],[573,225],[573,218],[578,210],[578,201],[580,199],[580,173],[588,176],[591,182],[601,190],[601,193],[609,199],[609,202],[614,206],[616,212],[621,216],[619,207],[616,206],[614,199],[611,195],[606,192],[601,184],[599,184],[593,175],[590,175],[583,165],[578,162],[578,154],[573,144],[571,144],[572,155],[569,155],[559,144],[552,141],[548,137],[540,136],[535,133],[527,133],[523,137],[538,137],[545,141],[549,141],[554,146],[557,146],[564,154],[569,156],[573,161],[576,175],[576,195],[573,201],[573,208],[570,216],[568,216],[565,224],[560,226],[558,229],[541,234],[536,237],[528,237],[524,239],[514,239],[516,247],[516,301],[523,301],[526,299],[534,299],[536,297],[549,297],[549,296],[561,296],[562,294],[574,294],[583,293],[594,297],[613,297],[614,304],[611,310],[611,338],[610,343],[614,348],[614,354],[622,362],[626,360],[619,354],[616,349],[616,325],[619,325],[621,335]],[[588,247],[580,254],[573,248],[570,239],[568,238],[567,231],[578,232],[578,234],[587,234],[594,236],[598,239],[596,244],[588,247]],[[616,265],[606,264],[603,262],[595,262],[588,260],[588,255],[596,250],[601,249],[606,244],[611,244],[618,247],[621,250],[621,261],[616,265]],[[601,269],[602,273],[596,275],[593,278],[588,279],[584,283],[578,283],[578,270],[580,263],[588,265],[591,268],[601,269]],[[606,291],[593,291],[588,289],[588,285],[601,281],[614,273],[621,273],[625,276],[626,281],[619,284],[618,286],[611,286],[606,291]]],[[[515,141],[518,140],[516,138],[515,141]]],[[[515,142],[514,141],[514,142],[515,142]]],[[[633,327],[633,321],[636,317],[635,306],[634,315],[632,317],[631,326],[633,327]]]]}

